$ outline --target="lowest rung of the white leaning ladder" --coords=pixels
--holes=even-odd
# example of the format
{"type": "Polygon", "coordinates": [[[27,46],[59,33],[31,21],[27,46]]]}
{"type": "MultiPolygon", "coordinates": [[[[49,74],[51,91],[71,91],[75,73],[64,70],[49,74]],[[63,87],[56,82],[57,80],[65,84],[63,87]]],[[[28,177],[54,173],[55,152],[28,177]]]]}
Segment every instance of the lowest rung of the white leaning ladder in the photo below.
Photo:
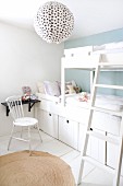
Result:
{"type": "Polygon", "coordinates": [[[97,160],[95,160],[95,159],[93,159],[93,158],[90,158],[90,156],[87,156],[87,155],[86,155],[86,156],[82,156],[82,159],[83,159],[84,161],[86,161],[86,162],[95,165],[95,166],[98,166],[99,168],[102,168],[102,170],[111,173],[111,174],[114,174],[114,173],[115,173],[113,168],[111,168],[111,167],[109,167],[109,166],[107,166],[107,165],[104,165],[104,164],[99,163],[97,160]]]}

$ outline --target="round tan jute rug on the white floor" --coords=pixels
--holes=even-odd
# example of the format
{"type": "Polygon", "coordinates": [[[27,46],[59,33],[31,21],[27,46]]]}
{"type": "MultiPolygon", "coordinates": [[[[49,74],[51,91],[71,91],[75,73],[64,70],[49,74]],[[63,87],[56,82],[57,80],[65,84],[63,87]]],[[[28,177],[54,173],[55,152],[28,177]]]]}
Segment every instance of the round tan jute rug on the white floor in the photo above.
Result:
{"type": "Polygon", "coordinates": [[[47,152],[14,152],[0,156],[0,186],[74,186],[71,167],[47,152]]]}

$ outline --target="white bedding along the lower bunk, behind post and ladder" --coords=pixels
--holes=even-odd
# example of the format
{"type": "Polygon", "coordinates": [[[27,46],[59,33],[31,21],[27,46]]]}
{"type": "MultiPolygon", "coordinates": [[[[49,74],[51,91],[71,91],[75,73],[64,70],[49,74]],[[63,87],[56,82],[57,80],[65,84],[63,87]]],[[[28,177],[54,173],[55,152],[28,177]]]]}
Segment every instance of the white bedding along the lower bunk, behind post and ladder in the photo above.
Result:
{"type": "MultiPolygon", "coordinates": [[[[83,107],[88,108],[90,103],[90,95],[88,95],[87,102],[79,101],[79,97],[82,97],[82,94],[66,94],[65,95],[65,105],[72,105],[74,107],[83,107]]],[[[48,100],[56,103],[61,103],[61,96],[51,96],[48,94],[37,93],[37,96],[39,100],[48,100]]],[[[115,112],[122,112],[123,111],[123,97],[115,96],[115,95],[97,95],[96,96],[96,106],[112,109],[115,112]]]]}

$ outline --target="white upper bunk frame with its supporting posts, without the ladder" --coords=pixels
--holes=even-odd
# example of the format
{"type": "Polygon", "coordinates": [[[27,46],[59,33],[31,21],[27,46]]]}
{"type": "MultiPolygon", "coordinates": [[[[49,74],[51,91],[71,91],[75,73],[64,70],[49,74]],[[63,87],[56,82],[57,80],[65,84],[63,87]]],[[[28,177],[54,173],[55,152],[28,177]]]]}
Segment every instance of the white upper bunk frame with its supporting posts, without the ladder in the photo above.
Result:
{"type": "MultiPolygon", "coordinates": [[[[120,50],[121,51],[121,50],[120,50]]],[[[79,69],[90,71],[90,92],[94,84],[95,70],[98,62],[101,65],[108,63],[107,67],[103,66],[101,71],[123,71],[123,50],[122,53],[109,53],[109,54],[93,54],[90,51],[82,56],[66,56],[61,60],[61,97],[62,104],[65,105],[65,70],[67,69],[79,69]],[[115,63],[116,62],[116,63],[115,63]]],[[[113,88],[112,88],[113,89],[113,88]]]]}

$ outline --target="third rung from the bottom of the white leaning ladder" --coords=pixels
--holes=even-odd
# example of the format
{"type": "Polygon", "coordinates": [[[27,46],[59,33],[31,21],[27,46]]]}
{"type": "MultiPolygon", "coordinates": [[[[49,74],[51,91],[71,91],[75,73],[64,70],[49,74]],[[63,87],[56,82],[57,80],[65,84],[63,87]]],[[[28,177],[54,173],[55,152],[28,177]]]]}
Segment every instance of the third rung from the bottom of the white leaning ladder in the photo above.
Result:
{"type": "Polygon", "coordinates": [[[96,112],[110,114],[110,115],[114,115],[114,116],[123,116],[123,112],[115,112],[115,111],[112,111],[112,109],[106,109],[106,108],[101,108],[101,107],[98,107],[98,106],[91,106],[90,109],[94,109],[96,112]]]}

